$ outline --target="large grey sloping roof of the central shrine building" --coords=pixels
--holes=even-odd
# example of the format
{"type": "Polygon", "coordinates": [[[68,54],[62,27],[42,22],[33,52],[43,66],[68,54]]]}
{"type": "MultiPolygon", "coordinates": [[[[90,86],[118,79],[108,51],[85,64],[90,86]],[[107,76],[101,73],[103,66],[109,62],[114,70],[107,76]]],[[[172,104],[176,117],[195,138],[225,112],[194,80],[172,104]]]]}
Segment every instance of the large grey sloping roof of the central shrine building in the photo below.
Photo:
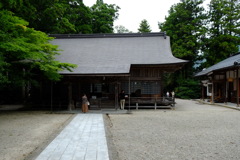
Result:
{"type": "Polygon", "coordinates": [[[128,74],[131,65],[182,64],[163,33],[51,35],[62,50],[57,60],[77,64],[61,74],[128,74]]]}

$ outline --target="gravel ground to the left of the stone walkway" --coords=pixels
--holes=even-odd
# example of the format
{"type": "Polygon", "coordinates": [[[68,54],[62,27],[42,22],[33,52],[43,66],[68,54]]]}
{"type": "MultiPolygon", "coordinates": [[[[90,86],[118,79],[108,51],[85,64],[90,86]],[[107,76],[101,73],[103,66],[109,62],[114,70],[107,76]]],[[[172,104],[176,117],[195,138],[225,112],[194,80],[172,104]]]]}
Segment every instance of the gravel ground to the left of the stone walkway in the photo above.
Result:
{"type": "Polygon", "coordinates": [[[33,159],[72,117],[41,111],[0,112],[0,160],[33,159]]]}

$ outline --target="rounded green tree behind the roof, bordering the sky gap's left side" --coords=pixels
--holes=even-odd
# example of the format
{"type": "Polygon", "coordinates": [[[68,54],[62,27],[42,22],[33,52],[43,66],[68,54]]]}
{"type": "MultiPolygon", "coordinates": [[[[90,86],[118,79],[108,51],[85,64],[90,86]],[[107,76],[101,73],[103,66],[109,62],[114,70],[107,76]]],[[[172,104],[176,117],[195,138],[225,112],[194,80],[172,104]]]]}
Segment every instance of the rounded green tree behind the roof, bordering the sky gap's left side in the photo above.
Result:
{"type": "Polygon", "coordinates": [[[118,18],[120,8],[114,4],[106,4],[97,0],[91,7],[93,33],[113,33],[113,23],[118,18]]]}

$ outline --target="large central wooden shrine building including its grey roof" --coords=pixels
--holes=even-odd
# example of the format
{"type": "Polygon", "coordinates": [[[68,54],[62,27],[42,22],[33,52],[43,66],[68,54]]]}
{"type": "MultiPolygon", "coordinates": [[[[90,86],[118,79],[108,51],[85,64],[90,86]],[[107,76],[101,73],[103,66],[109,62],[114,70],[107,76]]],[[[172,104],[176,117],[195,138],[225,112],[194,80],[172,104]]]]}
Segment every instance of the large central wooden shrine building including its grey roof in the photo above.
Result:
{"type": "Polygon", "coordinates": [[[62,71],[52,86],[52,104],[79,107],[86,93],[91,108],[117,107],[118,94],[133,97],[163,96],[163,74],[180,69],[187,61],[175,58],[164,33],[69,34],[52,44],[62,50],[57,60],[76,64],[62,71]]]}

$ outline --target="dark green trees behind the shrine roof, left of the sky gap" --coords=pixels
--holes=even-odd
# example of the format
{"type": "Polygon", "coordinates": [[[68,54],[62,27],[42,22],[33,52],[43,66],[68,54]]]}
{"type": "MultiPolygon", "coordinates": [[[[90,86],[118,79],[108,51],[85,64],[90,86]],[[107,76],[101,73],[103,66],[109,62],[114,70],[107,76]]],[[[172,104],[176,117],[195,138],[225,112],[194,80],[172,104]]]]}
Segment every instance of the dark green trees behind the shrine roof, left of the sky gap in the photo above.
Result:
{"type": "Polygon", "coordinates": [[[29,27],[51,34],[113,33],[116,5],[97,1],[91,8],[82,0],[3,0],[0,7],[29,22],[29,27]]]}

